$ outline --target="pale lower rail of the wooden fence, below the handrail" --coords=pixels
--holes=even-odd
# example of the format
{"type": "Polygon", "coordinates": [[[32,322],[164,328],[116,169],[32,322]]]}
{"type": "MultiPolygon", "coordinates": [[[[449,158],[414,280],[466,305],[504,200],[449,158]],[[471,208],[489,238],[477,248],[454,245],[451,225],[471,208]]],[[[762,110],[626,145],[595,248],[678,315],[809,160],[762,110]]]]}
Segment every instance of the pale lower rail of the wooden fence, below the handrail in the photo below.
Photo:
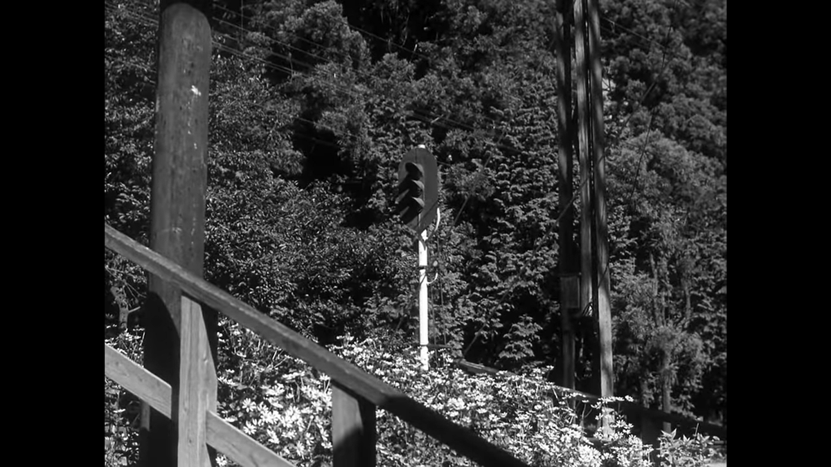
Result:
{"type": "MultiPolygon", "coordinates": [[[[104,344],[104,374],[127,391],[147,401],[162,415],[171,415],[170,385],[104,344]]],[[[211,410],[206,416],[208,444],[243,467],[296,467],[252,440],[211,410]]]]}

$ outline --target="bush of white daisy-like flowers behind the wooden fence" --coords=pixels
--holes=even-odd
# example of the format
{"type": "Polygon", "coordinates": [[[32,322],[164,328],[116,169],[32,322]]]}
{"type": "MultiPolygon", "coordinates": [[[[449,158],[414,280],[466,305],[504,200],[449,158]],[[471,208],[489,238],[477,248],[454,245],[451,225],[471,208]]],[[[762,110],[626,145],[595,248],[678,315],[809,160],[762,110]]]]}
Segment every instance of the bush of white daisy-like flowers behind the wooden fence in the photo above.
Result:
{"type": "MultiPolygon", "coordinates": [[[[125,334],[112,344],[135,354],[140,346],[125,334]]],[[[423,371],[416,347],[393,348],[390,342],[344,337],[332,351],[529,465],[652,465],[652,446],[643,445],[632,435],[632,425],[619,417],[611,430],[597,430],[590,440],[568,401],[552,396],[544,369],[471,376],[450,357],[434,352],[430,370],[423,371]]],[[[331,465],[329,377],[234,323],[223,324],[219,345],[219,415],[298,467],[331,465]]],[[[594,409],[602,412],[607,402],[594,409]]],[[[475,465],[385,410],[378,410],[376,417],[378,465],[475,465]]],[[[130,440],[128,459],[133,460],[137,450],[135,438],[130,440]]],[[[662,465],[703,465],[696,462],[702,462],[710,446],[706,437],[675,440],[665,435],[657,457],[662,465]]],[[[234,465],[222,455],[218,461],[220,466],[234,465]]]]}

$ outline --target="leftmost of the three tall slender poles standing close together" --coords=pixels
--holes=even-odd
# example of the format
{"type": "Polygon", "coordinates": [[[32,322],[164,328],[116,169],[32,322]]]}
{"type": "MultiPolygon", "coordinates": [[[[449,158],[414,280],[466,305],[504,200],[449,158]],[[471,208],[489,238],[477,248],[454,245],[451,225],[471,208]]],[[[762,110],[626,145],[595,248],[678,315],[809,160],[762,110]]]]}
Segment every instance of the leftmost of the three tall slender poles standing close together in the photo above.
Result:
{"type": "MultiPolygon", "coordinates": [[[[571,2],[557,2],[557,130],[558,130],[558,184],[559,184],[559,263],[560,263],[560,319],[562,328],[561,360],[563,365],[563,386],[574,389],[574,326],[573,315],[579,308],[578,294],[575,294],[574,279],[577,271],[573,265],[573,223],[572,208],[573,155],[571,125],[571,31],[568,27],[568,13],[571,2]],[[578,298],[573,300],[573,298],[578,298]]],[[[579,288],[577,288],[579,290],[579,288]]]]}

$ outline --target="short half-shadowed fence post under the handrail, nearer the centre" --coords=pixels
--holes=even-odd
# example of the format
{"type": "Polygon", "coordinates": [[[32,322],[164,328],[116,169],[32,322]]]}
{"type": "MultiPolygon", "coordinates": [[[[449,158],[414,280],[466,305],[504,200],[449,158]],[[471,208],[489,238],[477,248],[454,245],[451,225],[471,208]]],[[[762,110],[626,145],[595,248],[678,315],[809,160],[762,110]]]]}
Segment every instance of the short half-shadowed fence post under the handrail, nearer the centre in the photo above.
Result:
{"type": "Polygon", "coordinates": [[[375,467],[376,407],[332,383],[334,467],[375,467]]]}

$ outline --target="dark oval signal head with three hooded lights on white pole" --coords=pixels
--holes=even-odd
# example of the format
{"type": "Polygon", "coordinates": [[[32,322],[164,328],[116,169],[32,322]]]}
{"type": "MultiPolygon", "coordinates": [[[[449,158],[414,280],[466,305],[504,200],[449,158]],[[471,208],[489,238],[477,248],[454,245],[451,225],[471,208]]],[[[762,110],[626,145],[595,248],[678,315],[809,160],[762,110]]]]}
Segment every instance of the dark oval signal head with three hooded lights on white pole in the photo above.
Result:
{"type": "Polygon", "coordinates": [[[411,149],[398,165],[396,213],[420,234],[435,219],[439,204],[439,167],[424,147],[411,149]]]}

